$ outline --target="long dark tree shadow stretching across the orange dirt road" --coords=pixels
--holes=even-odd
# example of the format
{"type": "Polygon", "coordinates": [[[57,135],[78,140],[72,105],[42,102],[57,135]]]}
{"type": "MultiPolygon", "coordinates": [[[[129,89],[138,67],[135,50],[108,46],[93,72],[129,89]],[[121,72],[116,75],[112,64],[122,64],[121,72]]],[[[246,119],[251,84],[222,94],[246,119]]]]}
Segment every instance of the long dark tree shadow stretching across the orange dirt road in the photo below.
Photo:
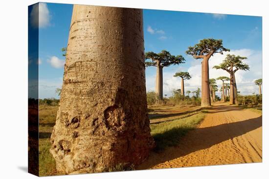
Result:
{"type": "MultiPolygon", "coordinates": [[[[247,132],[255,130],[261,126],[262,116],[212,127],[197,128],[188,133],[189,139],[193,140],[179,142],[177,147],[180,148],[180,150],[177,150],[177,147],[174,147],[173,150],[169,150],[169,148],[167,148],[168,150],[165,149],[162,154],[160,154],[162,157],[159,157],[159,154],[152,152],[149,159],[139,165],[137,169],[148,169],[159,163],[177,159],[195,151],[207,149],[225,140],[233,139],[235,137],[246,134],[247,132]]],[[[167,133],[169,132],[170,131],[167,131],[167,133]]],[[[165,133],[163,135],[165,135],[165,133]]]]}

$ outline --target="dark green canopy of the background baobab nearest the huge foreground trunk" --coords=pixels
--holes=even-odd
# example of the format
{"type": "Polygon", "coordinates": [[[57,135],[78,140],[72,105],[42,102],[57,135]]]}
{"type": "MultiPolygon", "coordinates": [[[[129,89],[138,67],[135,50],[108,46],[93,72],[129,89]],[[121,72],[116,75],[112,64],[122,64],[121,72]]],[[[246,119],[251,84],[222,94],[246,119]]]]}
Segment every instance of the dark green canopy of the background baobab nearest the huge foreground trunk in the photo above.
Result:
{"type": "Polygon", "coordinates": [[[185,63],[184,57],[182,57],[181,55],[178,56],[171,55],[170,52],[166,50],[162,50],[158,54],[154,52],[146,52],[145,59],[146,59],[145,61],[146,66],[157,66],[157,61],[160,63],[161,67],[185,63]],[[151,61],[147,61],[148,59],[150,59],[151,61]]]}

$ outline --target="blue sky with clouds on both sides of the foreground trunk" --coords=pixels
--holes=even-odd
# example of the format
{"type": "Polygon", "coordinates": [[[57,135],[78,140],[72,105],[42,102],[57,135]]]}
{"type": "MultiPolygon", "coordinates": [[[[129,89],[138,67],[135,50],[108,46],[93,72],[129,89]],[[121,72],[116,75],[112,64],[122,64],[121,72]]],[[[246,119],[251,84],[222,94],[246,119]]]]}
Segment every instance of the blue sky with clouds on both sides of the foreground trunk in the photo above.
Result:
{"type": "MultiPolygon", "coordinates": [[[[55,89],[61,87],[65,58],[62,47],[67,46],[72,5],[43,3],[39,7],[39,79],[40,98],[58,98],[55,89]]],[[[145,51],[160,52],[165,49],[172,55],[183,55],[184,64],[164,68],[164,94],[171,95],[180,88],[180,80],[173,75],[188,71],[192,79],[185,82],[185,90],[195,90],[201,83],[201,60],[187,56],[188,46],[206,38],[222,39],[230,54],[246,56],[249,72],[237,72],[239,91],[243,94],[258,93],[253,81],[262,78],[262,18],[222,14],[190,13],[163,10],[143,10],[145,51]]],[[[217,54],[210,59],[210,78],[228,76],[213,70],[225,58],[217,54]]],[[[156,68],[146,69],[147,91],[155,89],[156,68]]],[[[221,84],[221,81],[218,81],[221,84]]]]}

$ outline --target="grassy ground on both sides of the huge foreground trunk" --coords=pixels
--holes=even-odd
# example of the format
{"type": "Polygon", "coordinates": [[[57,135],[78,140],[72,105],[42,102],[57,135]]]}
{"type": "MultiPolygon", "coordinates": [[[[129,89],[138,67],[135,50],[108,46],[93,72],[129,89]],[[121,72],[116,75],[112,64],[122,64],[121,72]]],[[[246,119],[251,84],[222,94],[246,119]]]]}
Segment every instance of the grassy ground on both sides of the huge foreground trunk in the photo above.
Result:
{"type": "MultiPolygon", "coordinates": [[[[167,110],[180,109],[180,106],[158,106],[157,109],[151,109],[151,112],[158,111],[166,113],[167,110]]],[[[52,132],[53,126],[55,125],[57,116],[58,106],[40,105],[40,124],[39,124],[39,175],[40,176],[51,176],[51,175],[64,175],[57,173],[55,160],[49,153],[51,146],[50,134],[52,132]]],[[[155,151],[161,151],[165,147],[175,146],[179,143],[179,140],[184,136],[189,130],[195,129],[197,124],[199,124],[206,111],[202,110],[198,114],[193,116],[174,119],[170,121],[165,121],[157,124],[150,124],[151,135],[156,141],[155,151]]],[[[129,171],[134,170],[133,164],[120,163],[112,168],[108,168],[106,171],[129,171]]]]}

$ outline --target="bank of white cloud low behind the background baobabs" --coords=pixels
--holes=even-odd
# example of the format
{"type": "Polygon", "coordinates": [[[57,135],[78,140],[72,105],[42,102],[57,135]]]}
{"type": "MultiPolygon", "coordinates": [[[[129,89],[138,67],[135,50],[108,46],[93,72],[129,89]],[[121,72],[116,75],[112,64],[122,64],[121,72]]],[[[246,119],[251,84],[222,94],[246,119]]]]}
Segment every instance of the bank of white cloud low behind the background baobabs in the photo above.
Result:
{"type": "MultiPolygon", "coordinates": [[[[229,74],[224,70],[212,69],[213,66],[219,65],[226,57],[226,54],[240,55],[247,57],[247,60],[244,60],[245,63],[249,65],[249,71],[239,70],[236,72],[236,82],[238,91],[244,95],[250,95],[253,92],[256,94],[259,93],[258,87],[254,84],[255,79],[262,78],[262,52],[254,51],[250,49],[240,49],[240,50],[231,50],[230,52],[224,52],[224,55],[215,54],[209,60],[209,78],[218,78],[220,76],[229,77],[229,74]]],[[[201,60],[193,59],[191,62],[192,66],[188,69],[184,69],[182,66],[178,68],[164,68],[163,71],[163,94],[170,96],[173,89],[180,89],[180,79],[173,77],[174,74],[178,71],[187,71],[190,73],[192,78],[185,81],[185,91],[190,90],[194,91],[197,87],[201,88],[201,60]]],[[[148,70],[148,68],[147,68],[148,70]]],[[[155,90],[155,78],[156,74],[152,76],[146,76],[146,86],[147,91],[155,90]]],[[[221,81],[217,80],[217,85],[221,87],[221,81]]],[[[217,92],[217,95],[220,96],[220,92],[217,92]]]]}

